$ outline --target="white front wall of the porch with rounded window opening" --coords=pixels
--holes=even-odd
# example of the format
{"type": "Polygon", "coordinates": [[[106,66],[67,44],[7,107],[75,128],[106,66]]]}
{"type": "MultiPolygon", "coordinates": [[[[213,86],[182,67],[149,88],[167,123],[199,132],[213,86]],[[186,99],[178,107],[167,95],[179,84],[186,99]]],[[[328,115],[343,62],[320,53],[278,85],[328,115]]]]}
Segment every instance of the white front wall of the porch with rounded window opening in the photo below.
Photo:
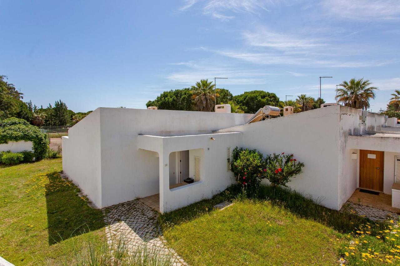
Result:
{"type": "Polygon", "coordinates": [[[139,149],[155,149],[160,154],[160,211],[168,212],[208,199],[234,183],[232,172],[227,171],[226,148],[241,146],[241,143],[242,133],[235,132],[176,137],[138,136],[139,149]],[[189,150],[189,176],[192,178],[194,156],[200,157],[200,181],[170,189],[169,154],[185,150],[189,150]]]}

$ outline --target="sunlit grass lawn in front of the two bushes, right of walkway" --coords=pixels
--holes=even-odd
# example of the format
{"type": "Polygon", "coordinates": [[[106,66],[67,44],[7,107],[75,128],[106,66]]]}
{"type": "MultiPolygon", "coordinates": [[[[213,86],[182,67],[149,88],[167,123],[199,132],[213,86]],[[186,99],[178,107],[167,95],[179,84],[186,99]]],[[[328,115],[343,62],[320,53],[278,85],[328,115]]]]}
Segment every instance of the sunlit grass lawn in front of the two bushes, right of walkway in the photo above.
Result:
{"type": "Polygon", "coordinates": [[[164,230],[192,265],[335,264],[335,231],[268,201],[235,201],[164,230]]]}

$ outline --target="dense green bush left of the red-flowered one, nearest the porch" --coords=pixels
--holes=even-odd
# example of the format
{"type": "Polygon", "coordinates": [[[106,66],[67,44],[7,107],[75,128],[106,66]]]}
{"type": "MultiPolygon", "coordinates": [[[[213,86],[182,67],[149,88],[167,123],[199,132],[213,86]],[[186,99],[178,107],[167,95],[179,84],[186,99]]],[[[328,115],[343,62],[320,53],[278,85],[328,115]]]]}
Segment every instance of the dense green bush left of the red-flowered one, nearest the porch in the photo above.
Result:
{"type": "Polygon", "coordinates": [[[232,152],[231,170],[239,184],[254,189],[264,177],[262,153],[236,147],[232,152]]]}

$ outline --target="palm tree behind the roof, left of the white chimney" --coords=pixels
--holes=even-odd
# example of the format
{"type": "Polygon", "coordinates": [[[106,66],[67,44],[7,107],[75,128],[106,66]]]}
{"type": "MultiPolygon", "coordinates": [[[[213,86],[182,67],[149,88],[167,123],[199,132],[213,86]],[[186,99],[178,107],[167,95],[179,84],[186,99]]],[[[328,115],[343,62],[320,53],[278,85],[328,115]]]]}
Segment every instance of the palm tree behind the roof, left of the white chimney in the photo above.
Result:
{"type": "Polygon", "coordinates": [[[201,79],[196,85],[190,87],[190,91],[196,104],[197,111],[211,112],[214,108],[215,95],[219,96],[218,89],[214,91],[215,85],[208,79],[201,79]]]}

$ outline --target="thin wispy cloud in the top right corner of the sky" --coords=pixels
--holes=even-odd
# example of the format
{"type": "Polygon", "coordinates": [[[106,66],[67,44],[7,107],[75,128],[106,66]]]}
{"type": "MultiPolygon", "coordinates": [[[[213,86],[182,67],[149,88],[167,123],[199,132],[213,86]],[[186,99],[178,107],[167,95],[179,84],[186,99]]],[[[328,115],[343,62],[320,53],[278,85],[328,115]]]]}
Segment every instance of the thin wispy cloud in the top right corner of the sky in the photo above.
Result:
{"type": "Polygon", "coordinates": [[[322,7],[346,20],[399,20],[399,0],[324,0],[322,7]]]}

